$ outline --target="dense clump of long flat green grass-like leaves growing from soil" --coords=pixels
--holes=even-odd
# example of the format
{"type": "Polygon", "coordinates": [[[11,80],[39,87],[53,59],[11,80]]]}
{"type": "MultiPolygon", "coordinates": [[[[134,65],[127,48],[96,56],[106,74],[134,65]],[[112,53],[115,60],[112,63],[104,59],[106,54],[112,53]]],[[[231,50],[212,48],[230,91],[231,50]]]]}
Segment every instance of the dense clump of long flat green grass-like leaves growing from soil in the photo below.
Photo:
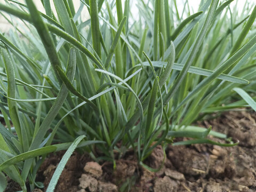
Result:
{"type": "Polygon", "coordinates": [[[69,0],[41,3],[45,13],[32,0],[0,4],[12,25],[0,34],[1,191],[6,175],[22,191],[43,187],[36,173],[53,151],[67,150],[47,191],[77,147],[114,168],[133,149],[139,166],[157,171],[143,163],[157,145],[237,144],[191,124],[256,109],[256,5],[239,13],[232,0],[202,0],[194,13],[187,1],[180,13],[176,0],[81,0],[77,11],[69,0]]]}

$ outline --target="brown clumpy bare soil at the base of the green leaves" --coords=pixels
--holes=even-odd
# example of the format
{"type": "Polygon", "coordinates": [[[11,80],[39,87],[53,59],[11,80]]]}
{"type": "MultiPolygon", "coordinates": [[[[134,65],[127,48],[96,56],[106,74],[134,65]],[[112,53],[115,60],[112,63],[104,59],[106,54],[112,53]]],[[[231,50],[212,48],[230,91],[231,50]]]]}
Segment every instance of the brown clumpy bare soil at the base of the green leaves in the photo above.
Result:
{"type": "MultiPolygon", "coordinates": [[[[218,118],[197,122],[203,127],[225,133],[238,146],[219,147],[207,144],[166,148],[164,166],[157,173],[137,166],[133,153],[112,163],[93,162],[86,154],[74,153],[69,159],[55,191],[256,191],[256,113],[229,111],[218,118]]],[[[223,140],[210,137],[214,141],[223,140]]],[[[177,138],[188,140],[188,138],[177,138]]],[[[64,152],[51,154],[40,167],[37,181],[45,191],[64,152]]],[[[157,169],[164,153],[157,146],[145,164],[157,169]]],[[[15,186],[9,181],[9,186],[15,186]]],[[[6,191],[15,191],[7,189],[6,191]]]]}

